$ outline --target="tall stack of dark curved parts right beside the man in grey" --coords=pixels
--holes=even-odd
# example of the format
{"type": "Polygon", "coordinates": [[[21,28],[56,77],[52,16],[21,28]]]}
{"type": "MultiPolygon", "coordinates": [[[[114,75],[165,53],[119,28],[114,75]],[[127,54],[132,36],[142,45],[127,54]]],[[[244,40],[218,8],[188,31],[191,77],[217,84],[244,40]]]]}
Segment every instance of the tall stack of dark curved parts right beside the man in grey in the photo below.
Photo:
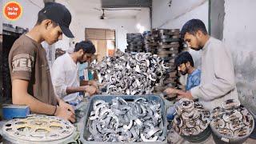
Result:
{"type": "Polygon", "coordinates": [[[180,47],[179,29],[154,29],[152,37],[154,37],[155,41],[158,41],[158,56],[163,58],[166,66],[169,67],[169,70],[166,70],[168,74],[166,75],[164,85],[176,87],[178,74],[174,66],[174,58],[177,56],[180,47]]]}

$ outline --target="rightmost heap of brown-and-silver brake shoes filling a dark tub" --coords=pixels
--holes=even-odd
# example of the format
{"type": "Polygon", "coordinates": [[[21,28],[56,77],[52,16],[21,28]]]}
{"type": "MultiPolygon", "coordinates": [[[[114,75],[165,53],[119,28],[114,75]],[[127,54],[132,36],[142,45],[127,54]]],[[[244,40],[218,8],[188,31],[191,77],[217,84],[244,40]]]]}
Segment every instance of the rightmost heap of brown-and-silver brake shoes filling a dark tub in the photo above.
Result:
{"type": "Polygon", "coordinates": [[[240,102],[226,100],[221,107],[214,108],[210,125],[220,134],[230,137],[242,137],[249,134],[253,127],[253,117],[240,102]]]}

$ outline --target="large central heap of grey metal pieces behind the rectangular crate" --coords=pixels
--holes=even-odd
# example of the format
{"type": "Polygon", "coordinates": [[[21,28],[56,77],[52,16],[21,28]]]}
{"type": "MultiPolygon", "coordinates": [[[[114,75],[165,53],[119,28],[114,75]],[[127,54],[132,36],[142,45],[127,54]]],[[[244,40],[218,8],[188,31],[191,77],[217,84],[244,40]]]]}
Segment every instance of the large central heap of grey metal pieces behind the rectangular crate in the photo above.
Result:
{"type": "Polygon", "coordinates": [[[149,53],[122,54],[93,63],[98,81],[106,85],[106,94],[152,94],[168,67],[162,58],[149,53]]]}

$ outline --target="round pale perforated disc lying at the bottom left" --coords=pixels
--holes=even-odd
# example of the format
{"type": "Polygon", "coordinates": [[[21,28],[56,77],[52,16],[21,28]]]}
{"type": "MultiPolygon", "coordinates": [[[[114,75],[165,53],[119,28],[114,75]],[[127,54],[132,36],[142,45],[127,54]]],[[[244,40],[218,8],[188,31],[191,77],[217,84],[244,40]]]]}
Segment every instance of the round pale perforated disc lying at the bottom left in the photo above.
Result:
{"type": "MultiPolygon", "coordinates": [[[[75,127],[62,118],[46,115],[33,115],[28,118],[12,119],[2,127],[3,135],[12,142],[58,142],[70,139],[75,127]]],[[[72,138],[71,138],[72,139],[72,138]]]]}

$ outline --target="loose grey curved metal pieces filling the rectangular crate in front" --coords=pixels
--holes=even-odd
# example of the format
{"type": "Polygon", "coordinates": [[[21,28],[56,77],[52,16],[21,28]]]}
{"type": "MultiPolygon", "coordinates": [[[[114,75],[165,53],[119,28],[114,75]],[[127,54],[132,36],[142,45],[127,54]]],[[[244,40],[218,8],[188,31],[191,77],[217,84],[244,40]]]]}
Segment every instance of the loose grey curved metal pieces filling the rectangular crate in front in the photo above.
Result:
{"type": "Polygon", "coordinates": [[[126,102],[114,98],[112,102],[98,100],[90,112],[89,141],[96,142],[156,142],[166,139],[161,105],[145,98],[126,102]]]}

